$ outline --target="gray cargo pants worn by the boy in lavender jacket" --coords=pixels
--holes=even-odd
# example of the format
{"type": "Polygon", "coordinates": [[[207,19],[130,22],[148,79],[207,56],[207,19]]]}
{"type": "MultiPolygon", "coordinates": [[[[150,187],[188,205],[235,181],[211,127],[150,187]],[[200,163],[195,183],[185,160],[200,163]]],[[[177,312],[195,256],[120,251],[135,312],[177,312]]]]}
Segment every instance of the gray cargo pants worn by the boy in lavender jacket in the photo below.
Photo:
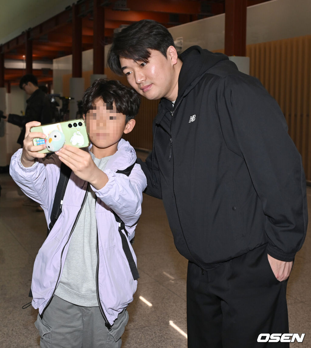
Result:
{"type": "Polygon", "coordinates": [[[34,325],[41,348],[120,348],[127,322],[123,310],[108,331],[99,307],[77,306],[54,296],[43,319],[38,315],[34,325]]]}

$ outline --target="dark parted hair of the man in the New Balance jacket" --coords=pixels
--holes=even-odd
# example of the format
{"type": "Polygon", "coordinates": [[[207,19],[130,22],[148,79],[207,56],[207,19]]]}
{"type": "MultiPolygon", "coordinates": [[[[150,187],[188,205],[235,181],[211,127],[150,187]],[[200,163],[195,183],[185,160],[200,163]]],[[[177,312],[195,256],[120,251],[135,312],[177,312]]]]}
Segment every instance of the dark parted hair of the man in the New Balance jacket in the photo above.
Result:
{"type": "Polygon", "coordinates": [[[114,73],[123,75],[120,56],[146,63],[150,49],[160,51],[166,57],[169,46],[175,47],[173,37],[166,27],[151,19],[142,19],[114,35],[107,65],[114,73]]]}

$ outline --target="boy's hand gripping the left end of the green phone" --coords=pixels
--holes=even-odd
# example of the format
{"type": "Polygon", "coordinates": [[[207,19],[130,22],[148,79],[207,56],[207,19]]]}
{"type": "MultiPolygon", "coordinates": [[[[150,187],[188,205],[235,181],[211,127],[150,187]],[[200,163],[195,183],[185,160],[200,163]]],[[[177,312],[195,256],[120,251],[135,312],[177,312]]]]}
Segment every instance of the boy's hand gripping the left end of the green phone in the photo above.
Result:
{"type": "Polygon", "coordinates": [[[30,132],[31,127],[40,126],[38,121],[31,121],[26,123],[26,133],[23,142],[23,151],[21,156],[21,162],[24,167],[31,167],[34,164],[36,158],[44,158],[46,153],[39,153],[38,151],[44,150],[46,145],[34,145],[33,139],[42,138],[45,139],[46,135],[40,132],[30,132]]]}

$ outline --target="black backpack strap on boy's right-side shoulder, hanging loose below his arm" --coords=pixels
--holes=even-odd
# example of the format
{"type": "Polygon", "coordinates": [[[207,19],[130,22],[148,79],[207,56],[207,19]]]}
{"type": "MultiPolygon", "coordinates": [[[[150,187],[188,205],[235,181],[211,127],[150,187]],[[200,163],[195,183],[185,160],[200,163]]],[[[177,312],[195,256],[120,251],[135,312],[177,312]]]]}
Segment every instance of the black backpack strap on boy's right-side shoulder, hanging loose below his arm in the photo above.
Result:
{"type": "MultiPolygon", "coordinates": [[[[134,168],[134,166],[135,166],[135,163],[133,163],[131,166],[127,167],[126,169],[123,169],[122,171],[118,170],[116,173],[122,173],[122,174],[125,174],[126,176],[129,176],[132,169],[134,168]]],[[[113,210],[112,210],[112,213],[115,217],[115,221],[117,221],[119,223],[119,234],[120,234],[120,237],[122,240],[122,248],[123,248],[123,251],[124,251],[125,256],[127,258],[133,279],[137,280],[139,278],[139,273],[137,270],[136,263],[133,259],[133,255],[132,255],[130,248],[128,246],[128,243],[127,243],[126,237],[128,236],[128,232],[125,228],[124,222],[120,219],[120,217],[113,210]],[[125,232],[126,236],[122,233],[122,230],[125,232]]],[[[134,237],[133,237],[133,239],[130,240],[130,243],[131,244],[134,243],[134,237]]]]}

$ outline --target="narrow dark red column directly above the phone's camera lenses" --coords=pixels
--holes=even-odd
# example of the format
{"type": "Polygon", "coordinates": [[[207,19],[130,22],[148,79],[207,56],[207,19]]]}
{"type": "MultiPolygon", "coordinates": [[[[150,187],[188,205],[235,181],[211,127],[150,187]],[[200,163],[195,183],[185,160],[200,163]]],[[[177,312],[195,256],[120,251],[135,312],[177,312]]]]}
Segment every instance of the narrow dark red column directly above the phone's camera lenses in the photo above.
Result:
{"type": "Polygon", "coordinates": [[[72,5],[72,77],[82,77],[82,18],[72,5]]]}

